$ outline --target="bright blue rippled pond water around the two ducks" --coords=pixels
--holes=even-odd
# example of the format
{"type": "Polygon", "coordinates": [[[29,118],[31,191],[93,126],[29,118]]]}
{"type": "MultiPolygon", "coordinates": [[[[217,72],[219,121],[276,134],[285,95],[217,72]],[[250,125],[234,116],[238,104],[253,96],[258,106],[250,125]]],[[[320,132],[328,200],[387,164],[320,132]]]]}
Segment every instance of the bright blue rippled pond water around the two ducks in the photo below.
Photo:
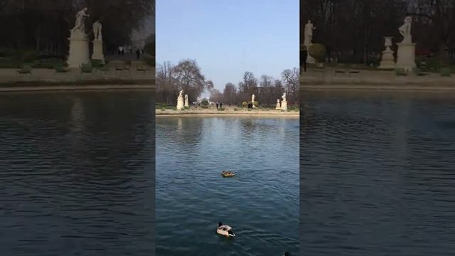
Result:
{"type": "Polygon", "coordinates": [[[299,251],[298,119],[159,117],[156,150],[156,255],[299,251]]]}

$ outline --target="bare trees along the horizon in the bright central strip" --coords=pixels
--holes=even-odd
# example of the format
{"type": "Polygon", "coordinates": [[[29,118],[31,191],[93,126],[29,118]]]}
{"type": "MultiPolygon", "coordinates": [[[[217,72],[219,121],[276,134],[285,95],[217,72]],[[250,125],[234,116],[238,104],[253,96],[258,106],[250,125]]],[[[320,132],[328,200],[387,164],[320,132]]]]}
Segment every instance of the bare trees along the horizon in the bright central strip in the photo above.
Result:
{"type": "Polygon", "coordinates": [[[289,105],[299,104],[299,69],[283,70],[280,79],[269,75],[255,78],[252,72],[246,71],[242,80],[235,85],[225,84],[223,92],[215,89],[211,80],[206,80],[196,60],[186,59],[172,65],[164,62],[156,67],[156,102],[169,105],[176,104],[180,90],[188,95],[190,102],[196,102],[205,90],[210,92],[208,100],[222,102],[225,105],[238,105],[251,101],[254,93],[259,105],[274,107],[277,99],[281,100],[283,92],[287,92],[289,105]]]}

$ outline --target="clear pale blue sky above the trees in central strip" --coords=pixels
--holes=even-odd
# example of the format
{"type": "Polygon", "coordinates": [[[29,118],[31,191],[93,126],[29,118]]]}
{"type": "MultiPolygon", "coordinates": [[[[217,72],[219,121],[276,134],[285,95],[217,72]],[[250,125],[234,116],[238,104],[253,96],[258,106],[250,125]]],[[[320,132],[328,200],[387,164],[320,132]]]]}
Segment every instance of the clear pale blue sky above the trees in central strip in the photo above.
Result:
{"type": "Polygon", "coordinates": [[[299,66],[299,0],[157,0],[156,63],[195,59],[223,92],[299,66]]]}

